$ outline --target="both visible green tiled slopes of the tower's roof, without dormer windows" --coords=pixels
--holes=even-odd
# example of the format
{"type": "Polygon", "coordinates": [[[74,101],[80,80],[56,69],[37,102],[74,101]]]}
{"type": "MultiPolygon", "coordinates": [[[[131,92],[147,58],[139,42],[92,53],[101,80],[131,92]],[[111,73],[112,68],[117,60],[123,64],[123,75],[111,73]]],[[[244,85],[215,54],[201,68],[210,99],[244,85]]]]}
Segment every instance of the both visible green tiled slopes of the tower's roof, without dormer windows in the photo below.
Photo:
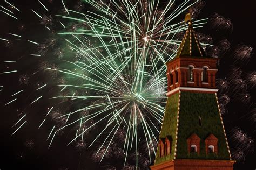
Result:
{"type": "Polygon", "coordinates": [[[179,105],[179,125],[177,138],[176,159],[217,159],[229,160],[225,134],[221,123],[218,104],[215,94],[193,93],[182,91],[167,99],[164,121],[160,132],[160,138],[171,136],[171,154],[160,157],[159,147],[155,164],[174,159],[176,141],[177,113],[179,105]],[[201,126],[199,125],[201,117],[201,126]],[[196,133],[200,140],[200,154],[188,153],[187,138],[196,133]],[[218,138],[218,154],[206,154],[205,139],[209,134],[218,138]]]}

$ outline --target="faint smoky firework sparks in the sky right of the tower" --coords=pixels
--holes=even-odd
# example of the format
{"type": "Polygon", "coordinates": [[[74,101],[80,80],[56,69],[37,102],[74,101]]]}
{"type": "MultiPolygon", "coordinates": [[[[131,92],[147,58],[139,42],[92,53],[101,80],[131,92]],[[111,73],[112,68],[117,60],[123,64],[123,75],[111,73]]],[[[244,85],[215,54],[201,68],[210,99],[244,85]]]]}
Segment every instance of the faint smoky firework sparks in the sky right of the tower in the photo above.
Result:
{"type": "MultiPolygon", "coordinates": [[[[217,14],[210,19],[210,26],[224,33],[231,33],[233,29],[230,20],[217,14]]],[[[246,156],[254,151],[254,139],[250,137],[254,131],[240,123],[255,123],[252,98],[252,91],[255,90],[254,72],[245,69],[251,60],[253,49],[246,45],[234,46],[223,38],[210,53],[219,56],[219,70],[223,72],[217,79],[221,114],[227,119],[226,126],[239,126],[229,128],[232,158],[244,162],[246,156]]]]}

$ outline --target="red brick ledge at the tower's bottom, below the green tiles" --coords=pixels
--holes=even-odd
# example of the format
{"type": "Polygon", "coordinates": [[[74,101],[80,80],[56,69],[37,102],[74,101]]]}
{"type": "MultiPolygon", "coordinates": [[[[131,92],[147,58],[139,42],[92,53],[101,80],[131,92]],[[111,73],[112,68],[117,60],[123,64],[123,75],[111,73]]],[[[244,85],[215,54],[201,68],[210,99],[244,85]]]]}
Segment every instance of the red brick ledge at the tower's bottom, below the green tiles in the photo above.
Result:
{"type": "Polygon", "coordinates": [[[175,159],[158,165],[152,170],[233,170],[233,160],[175,159]]]}

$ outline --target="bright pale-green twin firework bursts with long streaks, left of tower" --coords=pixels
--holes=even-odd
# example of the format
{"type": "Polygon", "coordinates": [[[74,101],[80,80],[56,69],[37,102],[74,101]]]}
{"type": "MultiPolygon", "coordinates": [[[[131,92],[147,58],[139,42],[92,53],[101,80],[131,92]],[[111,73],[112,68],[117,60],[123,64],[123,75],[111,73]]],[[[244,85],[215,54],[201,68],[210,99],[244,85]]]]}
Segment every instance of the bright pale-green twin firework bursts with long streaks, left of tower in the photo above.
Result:
{"type": "MultiPolygon", "coordinates": [[[[101,1],[88,3],[94,6],[97,12],[103,13],[103,16],[99,16],[96,12],[90,12],[90,15],[76,12],[82,15],[83,19],[61,16],[78,23],[85,23],[90,29],[79,29],[77,27],[79,24],[73,24],[72,29],[69,30],[72,32],[60,33],[71,35],[75,39],[73,41],[66,39],[66,41],[73,51],[87,61],[69,62],[76,67],[75,72],[71,69],[58,69],[58,71],[86,82],[82,86],[62,84],[61,87],[82,88],[89,91],[89,94],[86,96],[70,94],[55,98],[95,101],[90,107],[73,111],[69,115],[82,110],[91,112],[92,108],[97,110],[94,114],[76,119],[65,126],[76,123],[86,124],[92,118],[96,119],[96,124],[107,120],[106,127],[92,142],[93,144],[103,136],[106,138],[93,156],[94,161],[102,161],[104,157],[110,157],[113,137],[122,128],[126,131],[123,146],[125,161],[128,153],[131,152],[129,150],[135,148],[134,160],[138,167],[140,138],[145,138],[149,144],[148,150],[151,150],[150,146],[155,146],[152,139],[157,140],[156,134],[159,133],[155,122],[160,123],[163,118],[163,103],[166,100],[163,85],[165,84],[165,62],[172,59],[175,54],[173,52],[176,52],[176,49],[170,45],[178,45],[178,41],[173,40],[173,37],[177,32],[186,29],[186,25],[171,25],[170,22],[173,16],[190,5],[164,18],[172,6],[171,2],[163,10],[158,10],[158,3],[153,1],[125,1],[120,4],[116,2],[105,4],[101,1]],[[99,45],[89,48],[84,45],[83,38],[79,36],[97,37],[99,45]],[[142,130],[138,131],[138,129],[142,130]],[[103,135],[104,133],[109,135],[103,135]]],[[[74,12],[68,9],[67,11],[70,15],[74,12]]],[[[83,137],[89,130],[90,127],[84,129],[72,141],[83,137]]],[[[156,153],[155,150],[153,152],[156,153]]],[[[150,162],[151,154],[149,158],[150,162]]]]}

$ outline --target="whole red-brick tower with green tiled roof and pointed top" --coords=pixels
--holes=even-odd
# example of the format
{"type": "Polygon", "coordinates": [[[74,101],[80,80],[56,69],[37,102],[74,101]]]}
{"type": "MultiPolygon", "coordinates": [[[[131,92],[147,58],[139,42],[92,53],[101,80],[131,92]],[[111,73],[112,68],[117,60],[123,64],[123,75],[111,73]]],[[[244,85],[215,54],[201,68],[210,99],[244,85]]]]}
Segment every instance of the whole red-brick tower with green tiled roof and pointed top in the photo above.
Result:
{"type": "Polygon", "coordinates": [[[166,63],[168,98],[151,169],[233,169],[216,94],[216,59],[205,56],[186,18],[177,56],[166,63]]]}

